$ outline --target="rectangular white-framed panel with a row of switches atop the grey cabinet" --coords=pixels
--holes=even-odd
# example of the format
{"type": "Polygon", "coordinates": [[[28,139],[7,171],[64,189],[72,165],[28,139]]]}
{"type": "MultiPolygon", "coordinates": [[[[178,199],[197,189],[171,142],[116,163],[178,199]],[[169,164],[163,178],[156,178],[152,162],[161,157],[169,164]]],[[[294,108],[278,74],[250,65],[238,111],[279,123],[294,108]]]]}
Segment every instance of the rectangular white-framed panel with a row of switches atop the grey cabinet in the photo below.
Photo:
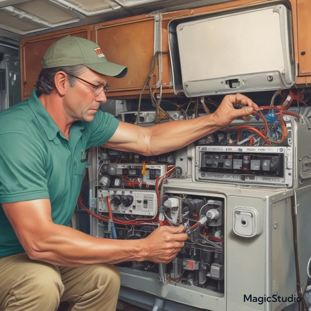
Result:
{"type": "Polygon", "coordinates": [[[291,187],[292,155],[290,147],[197,146],[196,180],[291,187]]]}

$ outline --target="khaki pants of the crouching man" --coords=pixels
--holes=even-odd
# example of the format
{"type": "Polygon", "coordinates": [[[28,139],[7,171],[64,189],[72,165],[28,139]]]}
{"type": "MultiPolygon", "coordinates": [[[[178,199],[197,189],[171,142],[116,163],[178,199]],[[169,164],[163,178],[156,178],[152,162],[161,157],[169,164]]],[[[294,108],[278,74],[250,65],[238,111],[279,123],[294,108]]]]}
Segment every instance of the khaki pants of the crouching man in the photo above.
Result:
{"type": "Polygon", "coordinates": [[[55,311],[60,301],[72,311],[115,311],[119,289],[113,265],[60,267],[26,253],[0,258],[0,311],[55,311]]]}

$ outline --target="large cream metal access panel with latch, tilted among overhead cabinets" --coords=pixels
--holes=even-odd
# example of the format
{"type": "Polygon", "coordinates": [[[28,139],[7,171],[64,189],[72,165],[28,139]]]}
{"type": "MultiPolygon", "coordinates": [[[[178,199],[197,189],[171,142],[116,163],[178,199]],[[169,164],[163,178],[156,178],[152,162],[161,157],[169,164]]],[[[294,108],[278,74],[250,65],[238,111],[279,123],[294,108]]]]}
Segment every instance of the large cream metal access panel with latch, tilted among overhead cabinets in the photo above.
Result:
{"type": "Polygon", "coordinates": [[[284,89],[295,81],[290,11],[278,4],[176,26],[187,97],[284,89]]]}

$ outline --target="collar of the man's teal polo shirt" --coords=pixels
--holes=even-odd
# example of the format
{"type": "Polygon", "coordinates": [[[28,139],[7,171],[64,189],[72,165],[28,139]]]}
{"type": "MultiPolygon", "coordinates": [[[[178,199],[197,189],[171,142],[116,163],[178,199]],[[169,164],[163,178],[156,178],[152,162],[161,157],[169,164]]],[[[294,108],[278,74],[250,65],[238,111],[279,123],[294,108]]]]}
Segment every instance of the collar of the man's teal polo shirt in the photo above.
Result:
{"type": "MultiPolygon", "coordinates": [[[[49,115],[49,113],[46,111],[46,109],[40,102],[38,98],[40,95],[41,92],[39,92],[38,90],[32,91],[28,99],[28,105],[35,114],[35,116],[37,117],[39,123],[42,125],[49,141],[52,141],[57,136],[57,133],[59,133],[63,138],[67,139],[60,131],[53,118],[49,115]]],[[[72,123],[70,131],[81,130],[83,128],[84,128],[83,122],[76,121],[72,123]]]]}

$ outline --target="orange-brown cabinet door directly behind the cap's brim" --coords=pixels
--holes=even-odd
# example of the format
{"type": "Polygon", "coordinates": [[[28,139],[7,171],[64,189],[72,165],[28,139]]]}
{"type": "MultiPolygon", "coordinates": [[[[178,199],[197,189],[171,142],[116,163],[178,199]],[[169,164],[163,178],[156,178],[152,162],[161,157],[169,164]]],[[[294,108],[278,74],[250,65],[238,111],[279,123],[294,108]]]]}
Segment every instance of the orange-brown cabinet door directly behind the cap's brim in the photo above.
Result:
{"type": "MultiPolygon", "coordinates": [[[[107,77],[107,97],[137,97],[151,70],[154,55],[154,17],[139,15],[95,25],[95,39],[109,62],[128,67],[124,78],[107,77]]],[[[159,72],[156,60],[154,72],[159,72]]],[[[149,85],[155,87],[156,78],[149,85]]],[[[149,89],[145,92],[149,93],[149,89]]]]}

